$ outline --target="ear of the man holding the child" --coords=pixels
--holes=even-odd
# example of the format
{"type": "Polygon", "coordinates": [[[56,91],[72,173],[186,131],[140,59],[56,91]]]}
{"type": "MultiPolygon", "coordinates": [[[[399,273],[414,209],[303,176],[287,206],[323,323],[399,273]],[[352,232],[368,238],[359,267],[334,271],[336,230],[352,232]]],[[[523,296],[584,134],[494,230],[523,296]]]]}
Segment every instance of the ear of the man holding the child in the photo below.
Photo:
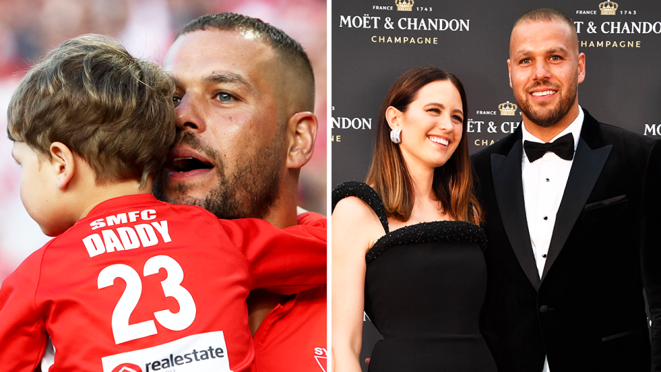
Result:
{"type": "Polygon", "coordinates": [[[287,121],[287,168],[297,169],[308,163],[315,149],[317,116],[309,111],[297,112],[287,121]]]}

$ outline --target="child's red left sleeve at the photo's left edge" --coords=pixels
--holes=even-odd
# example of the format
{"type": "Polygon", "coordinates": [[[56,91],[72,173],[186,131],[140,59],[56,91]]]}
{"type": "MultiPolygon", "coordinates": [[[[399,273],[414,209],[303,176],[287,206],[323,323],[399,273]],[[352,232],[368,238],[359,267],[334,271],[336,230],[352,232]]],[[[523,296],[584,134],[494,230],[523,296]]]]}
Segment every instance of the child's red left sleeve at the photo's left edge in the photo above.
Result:
{"type": "Polygon", "coordinates": [[[48,335],[35,303],[43,249],[34,252],[0,288],[0,366],[32,372],[41,362],[48,335]]]}

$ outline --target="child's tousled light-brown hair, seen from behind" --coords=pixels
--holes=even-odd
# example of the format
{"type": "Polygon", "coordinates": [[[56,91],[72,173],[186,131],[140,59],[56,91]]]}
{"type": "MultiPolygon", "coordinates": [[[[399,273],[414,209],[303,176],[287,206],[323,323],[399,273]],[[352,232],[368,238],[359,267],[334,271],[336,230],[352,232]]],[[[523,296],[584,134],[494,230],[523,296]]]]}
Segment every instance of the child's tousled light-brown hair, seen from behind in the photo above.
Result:
{"type": "Polygon", "coordinates": [[[48,158],[61,142],[90,164],[96,183],[158,171],[176,132],[174,82],[117,41],[86,34],[34,65],[12,94],[8,136],[48,158]]]}

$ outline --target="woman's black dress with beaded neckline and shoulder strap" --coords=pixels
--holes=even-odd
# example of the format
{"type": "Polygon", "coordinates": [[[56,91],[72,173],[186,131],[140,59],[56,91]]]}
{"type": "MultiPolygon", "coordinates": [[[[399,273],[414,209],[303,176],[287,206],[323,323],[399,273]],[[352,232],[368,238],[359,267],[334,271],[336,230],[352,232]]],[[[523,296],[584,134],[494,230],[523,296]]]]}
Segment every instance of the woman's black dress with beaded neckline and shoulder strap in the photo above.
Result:
{"type": "Polygon", "coordinates": [[[484,231],[437,221],[389,232],[374,189],[342,183],[333,190],[333,208],[347,196],[370,205],[386,231],[366,256],[365,311],[384,336],[369,371],[496,371],[479,330],[487,282],[484,231]]]}

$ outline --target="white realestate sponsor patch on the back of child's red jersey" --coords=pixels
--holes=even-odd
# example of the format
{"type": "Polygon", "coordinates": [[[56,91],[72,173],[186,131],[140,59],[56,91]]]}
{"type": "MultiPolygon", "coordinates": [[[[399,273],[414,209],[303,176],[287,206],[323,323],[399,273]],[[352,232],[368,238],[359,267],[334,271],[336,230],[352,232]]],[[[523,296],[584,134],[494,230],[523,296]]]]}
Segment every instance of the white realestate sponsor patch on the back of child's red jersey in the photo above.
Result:
{"type": "Polygon", "coordinates": [[[103,372],[232,372],[222,331],[189,335],[156,347],[101,358],[103,372]]]}

